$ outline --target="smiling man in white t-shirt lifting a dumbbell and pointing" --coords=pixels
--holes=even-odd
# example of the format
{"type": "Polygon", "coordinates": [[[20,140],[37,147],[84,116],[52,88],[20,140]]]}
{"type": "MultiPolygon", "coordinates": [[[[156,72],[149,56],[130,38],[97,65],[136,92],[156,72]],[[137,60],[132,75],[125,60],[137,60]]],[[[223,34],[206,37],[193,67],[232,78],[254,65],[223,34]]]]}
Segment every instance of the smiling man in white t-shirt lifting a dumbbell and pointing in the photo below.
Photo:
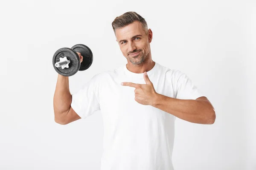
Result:
{"type": "Polygon", "coordinates": [[[175,117],[213,124],[214,108],[186,74],[152,60],[152,31],[143,17],[126,12],[112,26],[128,63],[96,74],[73,95],[68,77],[58,75],[55,122],[68,124],[100,110],[101,170],[173,170],[175,117]]]}

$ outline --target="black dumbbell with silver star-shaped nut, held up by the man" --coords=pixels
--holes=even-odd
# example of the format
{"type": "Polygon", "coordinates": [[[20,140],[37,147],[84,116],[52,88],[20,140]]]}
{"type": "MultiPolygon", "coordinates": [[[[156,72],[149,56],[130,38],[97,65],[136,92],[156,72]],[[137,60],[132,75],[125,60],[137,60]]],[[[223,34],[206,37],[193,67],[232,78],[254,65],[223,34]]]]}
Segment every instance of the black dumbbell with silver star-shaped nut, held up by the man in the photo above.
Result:
{"type": "Polygon", "coordinates": [[[60,48],[52,57],[52,64],[55,71],[62,76],[73,76],[77,71],[87,70],[93,63],[93,53],[89,47],[83,44],[74,45],[71,48],[60,48]],[[80,63],[81,53],[83,61],[80,63]]]}

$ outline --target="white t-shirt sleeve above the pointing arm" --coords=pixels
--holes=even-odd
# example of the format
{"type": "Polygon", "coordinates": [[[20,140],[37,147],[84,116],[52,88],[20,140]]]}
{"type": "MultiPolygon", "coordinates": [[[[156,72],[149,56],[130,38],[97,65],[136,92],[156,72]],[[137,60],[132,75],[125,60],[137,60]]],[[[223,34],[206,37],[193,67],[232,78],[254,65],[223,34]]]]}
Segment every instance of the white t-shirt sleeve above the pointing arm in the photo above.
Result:
{"type": "Polygon", "coordinates": [[[201,91],[194,85],[189,77],[179,71],[179,78],[177,80],[177,91],[176,99],[197,99],[198,97],[203,96],[201,91]]]}

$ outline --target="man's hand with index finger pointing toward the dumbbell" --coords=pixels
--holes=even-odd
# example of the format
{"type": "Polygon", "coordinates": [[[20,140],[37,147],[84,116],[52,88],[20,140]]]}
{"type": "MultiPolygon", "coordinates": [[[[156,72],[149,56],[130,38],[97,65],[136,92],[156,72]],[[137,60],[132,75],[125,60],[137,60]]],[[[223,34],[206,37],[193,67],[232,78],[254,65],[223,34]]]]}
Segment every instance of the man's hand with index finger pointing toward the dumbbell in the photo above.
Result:
{"type": "Polygon", "coordinates": [[[153,83],[148,78],[148,75],[145,72],[143,74],[146,84],[136,84],[133,82],[122,82],[123,86],[134,87],[135,100],[136,102],[142,105],[154,105],[154,102],[157,99],[157,92],[154,89],[153,83]]]}

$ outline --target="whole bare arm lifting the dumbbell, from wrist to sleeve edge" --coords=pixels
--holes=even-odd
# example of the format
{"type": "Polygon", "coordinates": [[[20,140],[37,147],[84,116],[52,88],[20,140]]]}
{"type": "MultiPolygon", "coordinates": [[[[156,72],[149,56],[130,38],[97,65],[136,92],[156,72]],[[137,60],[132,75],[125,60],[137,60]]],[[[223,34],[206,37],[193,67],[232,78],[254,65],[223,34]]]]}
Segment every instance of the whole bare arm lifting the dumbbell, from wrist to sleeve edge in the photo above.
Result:
{"type": "Polygon", "coordinates": [[[81,119],[71,107],[72,95],[69,90],[68,77],[58,74],[56,89],[53,97],[54,120],[56,123],[66,125],[81,119]]]}

